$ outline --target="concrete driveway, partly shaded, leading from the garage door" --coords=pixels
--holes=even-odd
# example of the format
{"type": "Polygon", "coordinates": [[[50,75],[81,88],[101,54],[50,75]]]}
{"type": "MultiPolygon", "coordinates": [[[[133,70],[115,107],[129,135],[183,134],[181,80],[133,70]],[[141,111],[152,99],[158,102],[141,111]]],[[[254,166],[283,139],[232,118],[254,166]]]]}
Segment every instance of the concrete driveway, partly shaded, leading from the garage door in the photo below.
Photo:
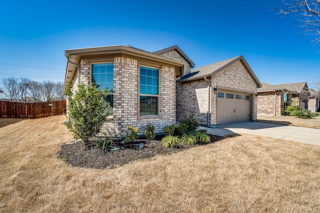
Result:
{"type": "Polygon", "coordinates": [[[200,127],[200,129],[206,129],[208,134],[218,136],[248,133],[320,146],[320,129],[259,122],[230,124],[219,128],[200,127]]]}

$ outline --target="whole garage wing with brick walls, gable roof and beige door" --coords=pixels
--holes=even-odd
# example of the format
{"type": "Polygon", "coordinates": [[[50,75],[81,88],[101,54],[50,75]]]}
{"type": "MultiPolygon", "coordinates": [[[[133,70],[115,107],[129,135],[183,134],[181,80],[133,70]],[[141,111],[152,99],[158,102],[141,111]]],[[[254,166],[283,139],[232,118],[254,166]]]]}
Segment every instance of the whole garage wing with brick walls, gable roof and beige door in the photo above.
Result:
{"type": "Polygon", "coordinates": [[[194,68],[176,84],[177,121],[189,114],[209,127],[256,121],[259,87],[243,56],[194,68]]]}

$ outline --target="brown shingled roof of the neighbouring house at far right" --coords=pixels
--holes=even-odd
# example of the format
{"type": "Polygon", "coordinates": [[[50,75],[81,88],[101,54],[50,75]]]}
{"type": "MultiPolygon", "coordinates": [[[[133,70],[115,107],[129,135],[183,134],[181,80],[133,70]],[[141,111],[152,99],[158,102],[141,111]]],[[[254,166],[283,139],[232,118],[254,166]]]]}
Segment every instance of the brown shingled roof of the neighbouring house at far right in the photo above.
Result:
{"type": "Polygon", "coordinates": [[[281,91],[286,91],[286,92],[301,93],[304,88],[308,88],[306,82],[278,84],[278,85],[272,85],[272,84],[268,84],[268,83],[263,82],[262,87],[258,88],[258,92],[281,90],[281,91]]]}

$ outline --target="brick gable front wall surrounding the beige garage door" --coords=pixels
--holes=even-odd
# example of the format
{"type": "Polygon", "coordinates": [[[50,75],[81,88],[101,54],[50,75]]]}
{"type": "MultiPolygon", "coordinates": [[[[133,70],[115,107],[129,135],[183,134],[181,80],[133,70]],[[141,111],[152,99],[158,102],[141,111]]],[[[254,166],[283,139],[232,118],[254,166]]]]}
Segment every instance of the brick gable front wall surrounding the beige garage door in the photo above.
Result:
{"type": "MultiPolygon", "coordinates": [[[[252,93],[252,120],[256,120],[256,98],[255,95],[257,93],[256,84],[245,70],[240,61],[236,61],[230,66],[224,68],[220,72],[218,72],[212,79],[212,88],[213,87],[224,87],[230,90],[243,90],[252,93]]],[[[216,94],[212,95],[211,101],[211,124],[216,125],[216,94]]]]}

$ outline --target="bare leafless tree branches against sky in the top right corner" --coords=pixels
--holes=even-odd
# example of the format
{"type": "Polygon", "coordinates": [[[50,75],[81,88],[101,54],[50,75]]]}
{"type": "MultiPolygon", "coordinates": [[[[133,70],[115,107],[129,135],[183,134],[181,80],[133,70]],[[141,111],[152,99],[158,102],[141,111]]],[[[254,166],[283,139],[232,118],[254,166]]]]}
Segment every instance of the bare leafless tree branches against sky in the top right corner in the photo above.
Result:
{"type": "Polygon", "coordinates": [[[315,36],[312,39],[313,42],[320,42],[320,0],[282,0],[282,2],[283,8],[269,7],[276,10],[278,14],[296,14],[299,21],[298,26],[304,28],[302,32],[315,36]]]}

